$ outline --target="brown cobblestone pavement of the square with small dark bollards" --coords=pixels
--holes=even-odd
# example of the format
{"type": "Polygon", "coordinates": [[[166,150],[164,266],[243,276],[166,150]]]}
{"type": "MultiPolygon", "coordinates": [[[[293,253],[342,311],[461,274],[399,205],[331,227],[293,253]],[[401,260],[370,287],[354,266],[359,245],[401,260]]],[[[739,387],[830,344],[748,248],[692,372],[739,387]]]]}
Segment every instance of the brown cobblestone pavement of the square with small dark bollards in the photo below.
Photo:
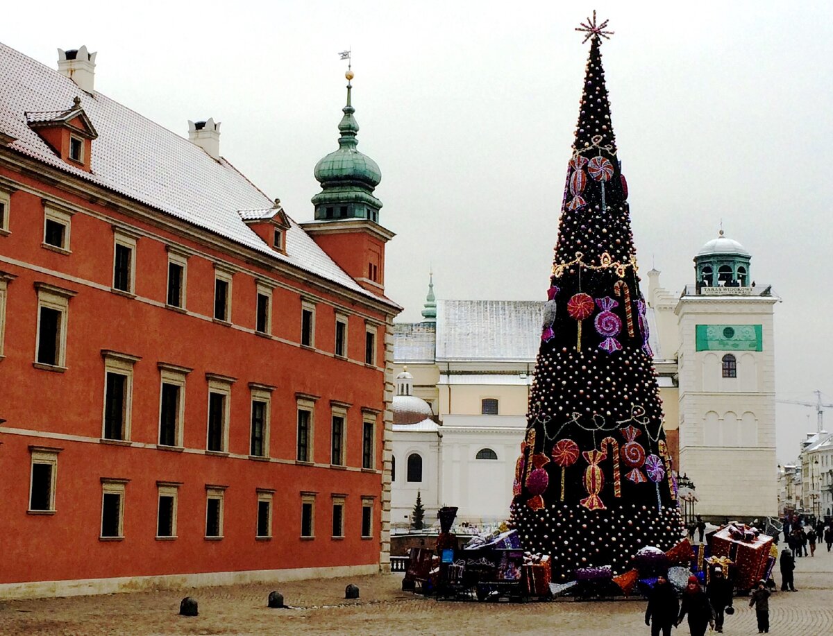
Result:
{"type": "MultiPolygon", "coordinates": [[[[833,634],[833,553],[796,559],[796,593],[777,592],[770,601],[770,634],[833,634]]],[[[400,590],[402,575],[297,581],[269,585],[160,590],[135,594],[0,601],[0,634],[650,634],[645,601],[535,604],[438,603],[400,590]],[[345,601],[355,583],[358,601],[345,601]],[[296,609],[267,609],[278,589],[296,609]],[[177,615],[192,596],[200,615],[177,615]]],[[[776,572],[776,582],[781,577],[776,572]]],[[[724,634],[757,634],[748,601],[735,601],[724,634]]],[[[675,630],[686,636],[688,630],[675,630]]]]}

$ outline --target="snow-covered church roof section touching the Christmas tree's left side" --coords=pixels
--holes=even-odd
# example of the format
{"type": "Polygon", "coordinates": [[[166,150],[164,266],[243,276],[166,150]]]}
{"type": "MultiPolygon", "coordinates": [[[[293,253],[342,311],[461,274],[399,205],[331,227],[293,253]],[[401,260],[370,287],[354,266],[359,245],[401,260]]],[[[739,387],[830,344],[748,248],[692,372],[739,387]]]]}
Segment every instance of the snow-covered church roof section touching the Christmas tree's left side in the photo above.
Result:
{"type": "Polygon", "coordinates": [[[436,301],[436,360],[533,362],[542,301],[436,301]]]}

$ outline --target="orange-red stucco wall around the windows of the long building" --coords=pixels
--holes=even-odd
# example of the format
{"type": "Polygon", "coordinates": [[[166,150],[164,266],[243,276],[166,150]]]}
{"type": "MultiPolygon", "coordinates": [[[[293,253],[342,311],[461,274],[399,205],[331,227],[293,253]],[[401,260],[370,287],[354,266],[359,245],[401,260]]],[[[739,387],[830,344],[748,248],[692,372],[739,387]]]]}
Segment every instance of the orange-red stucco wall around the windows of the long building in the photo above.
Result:
{"type": "MultiPolygon", "coordinates": [[[[5,357],[0,359],[0,584],[152,574],[190,574],[377,564],[382,513],[384,326],[377,367],[364,364],[366,320],[386,324],[377,306],[297,277],[252,265],[242,248],[222,251],[198,232],[187,236],[0,169],[22,184],[12,194],[8,236],[0,236],[0,271],[7,286],[5,357]],[[81,206],[72,216],[71,254],[42,247],[43,203],[53,194],[81,206]],[[111,291],[112,223],[130,226],[137,241],[135,297],[111,291]],[[147,236],[151,234],[153,236],[147,236]],[[166,244],[192,251],[187,261],[187,314],[164,306],[166,244]],[[234,253],[234,250],[237,252],[234,253]],[[232,325],[211,319],[214,262],[239,268],[232,281],[232,325]],[[277,281],[272,338],[256,335],[255,277],[277,281]],[[36,281],[77,292],[69,301],[66,370],[32,365],[36,348],[36,281]],[[299,346],[301,297],[316,301],[316,349],[299,346]],[[348,355],[332,355],[336,307],[347,313],[348,355]],[[130,445],[102,442],[104,362],[101,350],[141,356],[133,367],[130,445]],[[185,388],[184,450],[157,449],[160,371],[157,362],[192,368],[185,388]],[[232,385],[228,456],[206,455],[206,373],[232,385]],[[271,398],[272,461],[251,460],[248,383],[276,387],[271,398]],[[297,465],[296,393],[317,395],[314,465],[297,465]],[[347,470],[330,461],[331,400],[347,413],[347,470]],[[362,466],[362,408],[378,412],[375,465],[362,466]],[[28,514],[30,445],[62,448],[57,456],[55,514],[28,514]],[[125,486],[124,539],[99,539],[102,478],[125,486]],[[156,539],[157,481],[181,482],[177,539],[156,539]],[[224,538],[205,534],[206,484],[222,484],[224,538]],[[256,539],[257,489],[273,489],[272,539],[256,539]],[[315,538],[302,539],[301,493],[314,492],[315,538]],[[346,494],[345,537],[332,534],[332,494],[346,494]],[[361,534],[362,497],[372,497],[371,539],[361,534]]],[[[158,214],[158,213],[157,213],[158,214]]],[[[161,216],[160,216],[161,217],[161,216]]],[[[157,218],[160,218],[157,217],[157,218]]],[[[212,237],[212,240],[213,237],[212,237]]]]}

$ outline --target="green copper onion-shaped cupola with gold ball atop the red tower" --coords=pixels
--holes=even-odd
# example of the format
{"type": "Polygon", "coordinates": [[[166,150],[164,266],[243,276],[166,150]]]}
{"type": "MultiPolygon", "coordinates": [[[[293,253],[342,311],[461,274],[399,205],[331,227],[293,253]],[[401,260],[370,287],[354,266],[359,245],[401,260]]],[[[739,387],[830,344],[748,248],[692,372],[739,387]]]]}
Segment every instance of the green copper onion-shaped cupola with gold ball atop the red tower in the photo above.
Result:
{"type": "Polygon", "coordinates": [[[367,219],[379,222],[382,201],[373,196],[373,190],[382,181],[382,171],[376,161],[356,149],[359,125],[353,113],[351,92],[353,72],[348,70],[347,105],[338,124],[338,150],[331,152],[315,166],[315,178],[322,191],[312,197],[316,221],[344,221],[367,219]]]}

